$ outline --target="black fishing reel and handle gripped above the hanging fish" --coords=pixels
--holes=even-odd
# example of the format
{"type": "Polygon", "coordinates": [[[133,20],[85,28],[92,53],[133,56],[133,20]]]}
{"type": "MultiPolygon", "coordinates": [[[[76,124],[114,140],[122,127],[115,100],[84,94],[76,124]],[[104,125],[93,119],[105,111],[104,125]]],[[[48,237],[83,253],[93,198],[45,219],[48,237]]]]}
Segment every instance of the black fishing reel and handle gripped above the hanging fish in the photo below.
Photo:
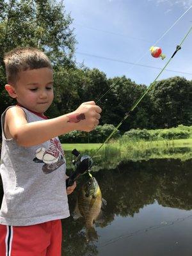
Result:
{"type": "Polygon", "coordinates": [[[93,159],[90,156],[83,155],[79,153],[76,148],[72,150],[72,154],[76,156],[76,159],[72,161],[74,164],[74,173],[68,177],[66,180],[66,187],[72,186],[75,182],[75,180],[83,173],[87,172],[90,170],[90,168],[93,165],[93,159]]]}

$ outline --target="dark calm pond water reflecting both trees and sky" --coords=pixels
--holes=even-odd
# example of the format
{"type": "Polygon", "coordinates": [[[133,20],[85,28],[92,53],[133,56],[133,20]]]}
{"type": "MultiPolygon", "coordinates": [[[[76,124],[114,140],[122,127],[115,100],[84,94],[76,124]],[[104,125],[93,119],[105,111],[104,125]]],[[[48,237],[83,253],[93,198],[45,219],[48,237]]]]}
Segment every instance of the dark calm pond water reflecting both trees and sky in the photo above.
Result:
{"type": "MultiPolygon", "coordinates": [[[[83,218],[63,220],[63,255],[191,256],[191,164],[150,159],[92,173],[107,201],[104,220],[94,225],[99,239],[86,242],[83,218]]],[[[69,196],[71,212],[76,196],[69,196]]]]}

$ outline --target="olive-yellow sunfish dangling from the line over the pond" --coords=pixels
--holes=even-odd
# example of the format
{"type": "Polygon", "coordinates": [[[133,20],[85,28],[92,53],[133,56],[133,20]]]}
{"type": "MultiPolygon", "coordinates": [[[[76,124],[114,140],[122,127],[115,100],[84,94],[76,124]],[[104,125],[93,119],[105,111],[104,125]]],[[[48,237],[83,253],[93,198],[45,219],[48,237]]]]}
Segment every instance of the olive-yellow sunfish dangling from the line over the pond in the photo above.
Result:
{"type": "Polygon", "coordinates": [[[86,241],[98,240],[97,232],[93,226],[94,222],[99,222],[103,218],[102,209],[106,205],[106,200],[102,198],[99,184],[95,177],[91,177],[81,187],[74,210],[74,220],[83,217],[86,227],[86,241]]]}

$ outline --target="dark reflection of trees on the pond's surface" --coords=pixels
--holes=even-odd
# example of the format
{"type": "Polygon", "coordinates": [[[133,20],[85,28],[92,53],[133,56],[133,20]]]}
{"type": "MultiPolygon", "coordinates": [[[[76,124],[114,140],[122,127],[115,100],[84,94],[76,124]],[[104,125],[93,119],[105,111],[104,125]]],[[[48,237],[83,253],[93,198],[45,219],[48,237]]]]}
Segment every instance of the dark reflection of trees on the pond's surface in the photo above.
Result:
{"type": "MultiPolygon", "coordinates": [[[[104,221],[95,227],[106,227],[115,216],[134,217],[145,205],[158,204],[177,209],[192,209],[192,160],[151,159],[121,163],[114,170],[93,173],[97,179],[103,198],[108,205],[104,221]]],[[[81,177],[77,189],[87,177],[81,177]]],[[[76,204],[76,193],[69,196],[70,211],[76,204]]],[[[97,255],[97,243],[87,243],[84,220],[74,221],[72,217],[63,220],[63,255],[97,255]]]]}

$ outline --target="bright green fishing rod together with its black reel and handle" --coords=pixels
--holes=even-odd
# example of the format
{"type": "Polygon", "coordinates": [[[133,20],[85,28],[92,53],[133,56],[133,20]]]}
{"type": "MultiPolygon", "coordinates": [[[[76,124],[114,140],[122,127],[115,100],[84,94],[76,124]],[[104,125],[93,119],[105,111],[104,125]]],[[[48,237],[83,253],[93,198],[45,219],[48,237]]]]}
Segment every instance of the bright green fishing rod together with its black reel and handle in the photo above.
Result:
{"type": "MultiPolygon", "coordinates": [[[[161,69],[161,71],[159,72],[157,77],[154,79],[154,81],[150,84],[150,86],[148,86],[148,88],[143,92],[143,94],[141,94],[140,98],[138,98],[138,100],[136,100],[136,102],[134,102],[134,104],[132,105],[131,109],[129,109],[129,111],[127,113],[125,113],[124,118],[122,118],[121,122],[115,127],[115,129],[113,129],[111,134],[109,134],[108,138],[106,138],[106,140],[102,143],[102,145],[100,145],[100,147],[96,150],[95,154],[93,156],[87,156],[87,155],[81,156],[81,154],[76,149],[72,151],[72,154],[74,154],[74,156],[76,156],[76,159],[72,161],[72,163],[75,166],[75,172],[72,174],[71,177],[69,177],[67,179],[67,182],[66,182],[67,186],[72,186],[72,184],[74,184],[74,181],[79,177],[79,175],[84,174],[86,172],[88,172],[89,175],[92,176],[90,174],[90,172],[91,172],[90,169],[91,169],[91,167],[93,165],[93,157],[95,157],[95,155],[99,152],[100,148],[102,148],[104,146],[104,144],[106,144],[108,142],[108,140],[111,138],[111,136],[113,136],[113,134],[118,130],[120,125],[122,125],[123,122],[125,122],[125,120],[130,115],[130,113],[136,108],[136,106],[138,106],[138,104],[140,104],[140,102],[143,99],[143,97],[145,97],[145,95],[149,92],[149,90],[154,86],[154,84],[156,83],[156,81],[159,78],[159,76],[161,76],[161,74],[163,73],[164,69],[168,66],[170,61],[175,56],[175,54],[181,49],[181,45],[183,44],[184,40],[186,40],[186,38],[188,37],[188,35],[191,32],[191,30],[192,30],[192,26],[189,29],[188,33],[186,33],[184,38],[182,38],[180,44],[177,45],[177,47],[176,47],[175,51],[173,52],[172,56],[166,62],[166,64],[161,69]]],[[[106,95],[106,93],[104,93],[104,95],[106,95]]]]}

